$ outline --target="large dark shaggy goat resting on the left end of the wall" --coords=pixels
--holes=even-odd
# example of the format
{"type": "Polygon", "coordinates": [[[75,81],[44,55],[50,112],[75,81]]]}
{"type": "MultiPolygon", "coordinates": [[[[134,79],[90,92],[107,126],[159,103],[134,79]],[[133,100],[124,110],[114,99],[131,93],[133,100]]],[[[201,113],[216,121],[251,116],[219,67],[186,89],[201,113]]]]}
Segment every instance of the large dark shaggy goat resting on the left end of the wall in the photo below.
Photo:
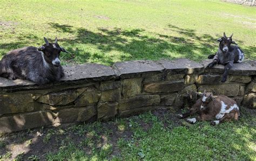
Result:
{"type": "Polygon", "coordinates": [[[44,85],[59,80],[64,76],[60,65],[60,52],[68,53],[63,47],[49,43],[44,37],[45,44],[41,47],[28,46],[10,51],[0,61],[0,76],[10,80],[27,79],[44,85]]]}

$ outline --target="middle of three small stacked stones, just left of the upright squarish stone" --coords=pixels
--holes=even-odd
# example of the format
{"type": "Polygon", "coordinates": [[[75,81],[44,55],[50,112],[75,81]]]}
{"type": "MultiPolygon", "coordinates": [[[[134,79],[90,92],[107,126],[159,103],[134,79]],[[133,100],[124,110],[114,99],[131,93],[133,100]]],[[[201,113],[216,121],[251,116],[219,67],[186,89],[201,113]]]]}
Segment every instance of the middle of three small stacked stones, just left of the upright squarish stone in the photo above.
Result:
{"type": "Polygon", "coordinates": [[[100,102],[108,102],[108,101],[120,101],[121,99],[121,90],[120,88],[106,90],[102,92],[102,96],[100,97],[100,102]]]}

